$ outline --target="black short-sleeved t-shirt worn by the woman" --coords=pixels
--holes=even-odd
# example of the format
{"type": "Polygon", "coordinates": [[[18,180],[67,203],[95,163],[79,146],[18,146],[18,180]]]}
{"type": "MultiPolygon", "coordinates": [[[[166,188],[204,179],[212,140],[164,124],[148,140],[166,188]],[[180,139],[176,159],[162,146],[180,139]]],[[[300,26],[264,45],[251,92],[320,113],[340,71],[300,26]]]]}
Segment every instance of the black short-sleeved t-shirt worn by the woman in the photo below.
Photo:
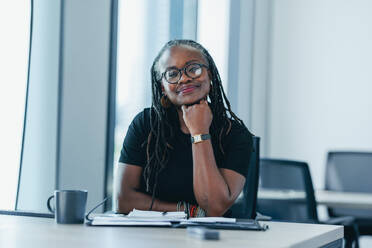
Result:
{"type": "MultiPolygon", "coordinates": [[[[173,121],[177,122],[178,128],[175,130],[168,163],[158,177],[156,198],[168,202],[186,201],[196,204],[193,191],[191,136],[181,131],[178,117],[173,121]]],[[[252,152],[252,134],[237,121],[231,122],[231,130],[223,140],[224,155],[221,156],[221,153],[217,152],[217,149],[220,149],[218,145],[213,145],[216,163],[219,168],[230,169],[246,177],[252,152]]],[[[145,168],[149,133],[150,108],[146,108],[130,124],[119,162],[145,168]]],[[[143,171],[140,191],[146,193],[143,171]]]]}

